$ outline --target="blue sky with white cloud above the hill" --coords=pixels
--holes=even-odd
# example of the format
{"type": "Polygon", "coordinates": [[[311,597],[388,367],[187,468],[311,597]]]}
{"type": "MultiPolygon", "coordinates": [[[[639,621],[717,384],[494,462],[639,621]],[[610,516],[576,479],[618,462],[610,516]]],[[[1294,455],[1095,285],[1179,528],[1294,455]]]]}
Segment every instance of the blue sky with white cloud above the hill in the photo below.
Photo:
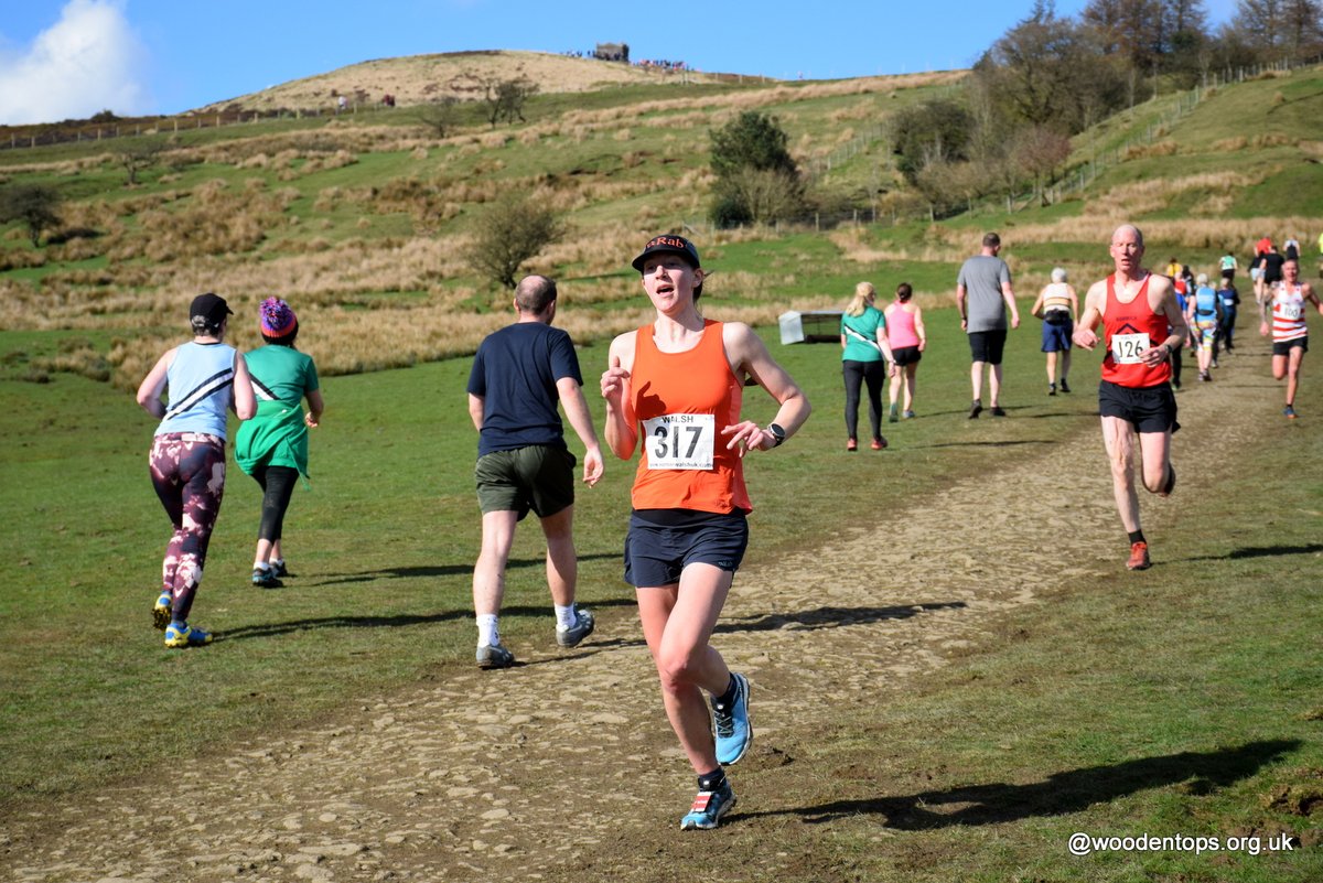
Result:
{"type": "MultiPolygon", "coordinates": [[[[1086,0],[1058,0],[1074,15],[1086,0]]],[[[5,0],[0,124],[175,114],[372,58],[630,44],[635,59],[794,79],[970,66],[1032,0],[5,0]]],[[[1213,22],[1234,0],[1205,0],[1213,22]]]]}

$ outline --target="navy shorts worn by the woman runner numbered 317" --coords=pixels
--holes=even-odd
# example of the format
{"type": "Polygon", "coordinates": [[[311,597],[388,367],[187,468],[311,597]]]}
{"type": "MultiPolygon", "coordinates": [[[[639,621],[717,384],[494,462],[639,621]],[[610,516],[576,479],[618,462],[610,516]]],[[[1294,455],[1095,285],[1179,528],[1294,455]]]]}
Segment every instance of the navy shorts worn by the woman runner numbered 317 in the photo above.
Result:
{"type": "Polygon", "coordinates": [[[742,510],[635,509],[624,537],[624,582],[646,588],[673,586],[688,564],[734,572],[747,547],[749,521],[742,510]]]}

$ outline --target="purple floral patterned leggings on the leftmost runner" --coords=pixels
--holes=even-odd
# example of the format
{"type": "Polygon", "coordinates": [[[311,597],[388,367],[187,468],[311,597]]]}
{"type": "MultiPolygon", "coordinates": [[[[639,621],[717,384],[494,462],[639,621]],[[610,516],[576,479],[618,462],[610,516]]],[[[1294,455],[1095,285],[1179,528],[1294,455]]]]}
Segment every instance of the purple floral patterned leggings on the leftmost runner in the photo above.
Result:
{"type": "Polygon", "coordinates": [[[225,441],[201,432],[169,432],[152,441],[152,486],[175,525],[161,564],[172,619],[185,621],[202,580],[206,546],[225,496],[225,441]]]}

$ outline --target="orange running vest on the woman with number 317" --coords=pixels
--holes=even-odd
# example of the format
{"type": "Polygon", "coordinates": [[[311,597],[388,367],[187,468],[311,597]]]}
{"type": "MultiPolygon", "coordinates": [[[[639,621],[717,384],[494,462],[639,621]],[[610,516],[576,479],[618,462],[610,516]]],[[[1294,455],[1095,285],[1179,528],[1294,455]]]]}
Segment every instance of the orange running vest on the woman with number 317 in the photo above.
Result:
{"type": "Polygon", "coordinates": [[[744,386],[730,370],[722,344],[721,323],[704,320],[697,346],[683,353],[663,353],[652,340],[652,325],[636,332],[630,395],[639,420],[643,456],[634,476],[635,509],[693,509],[729,513],[751,512],[744,482],[744,461],[737,449],[726,449],[728,426],[740,422],[744,386]],[[706,422],[685,415],[713,415],[706,422]],[[646,423],[654,420],[652,432],[646,423]],[[697,424],[697,426],[696,426],[697,424]],[[683,461],[685,455],[700,459],[710,441],[712,468],[652,468],[683,461]],[[704,449],[693,451],[695,444],[704,449]]]}

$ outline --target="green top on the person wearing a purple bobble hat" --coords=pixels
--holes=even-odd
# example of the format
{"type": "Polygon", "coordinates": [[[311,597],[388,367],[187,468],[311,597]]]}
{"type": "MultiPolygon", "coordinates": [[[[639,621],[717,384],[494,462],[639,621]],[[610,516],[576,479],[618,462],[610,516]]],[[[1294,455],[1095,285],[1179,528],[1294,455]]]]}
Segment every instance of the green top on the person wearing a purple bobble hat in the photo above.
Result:
{"type": "Polygon", "coordinates": [[[270,344],[245,354],[257,415],[243,420],[234,439],[234,461],[247,475],[258,467],[288,467],[308,475],[308,427],[303,397],[319,389],[312,357],[270,344]]]}

